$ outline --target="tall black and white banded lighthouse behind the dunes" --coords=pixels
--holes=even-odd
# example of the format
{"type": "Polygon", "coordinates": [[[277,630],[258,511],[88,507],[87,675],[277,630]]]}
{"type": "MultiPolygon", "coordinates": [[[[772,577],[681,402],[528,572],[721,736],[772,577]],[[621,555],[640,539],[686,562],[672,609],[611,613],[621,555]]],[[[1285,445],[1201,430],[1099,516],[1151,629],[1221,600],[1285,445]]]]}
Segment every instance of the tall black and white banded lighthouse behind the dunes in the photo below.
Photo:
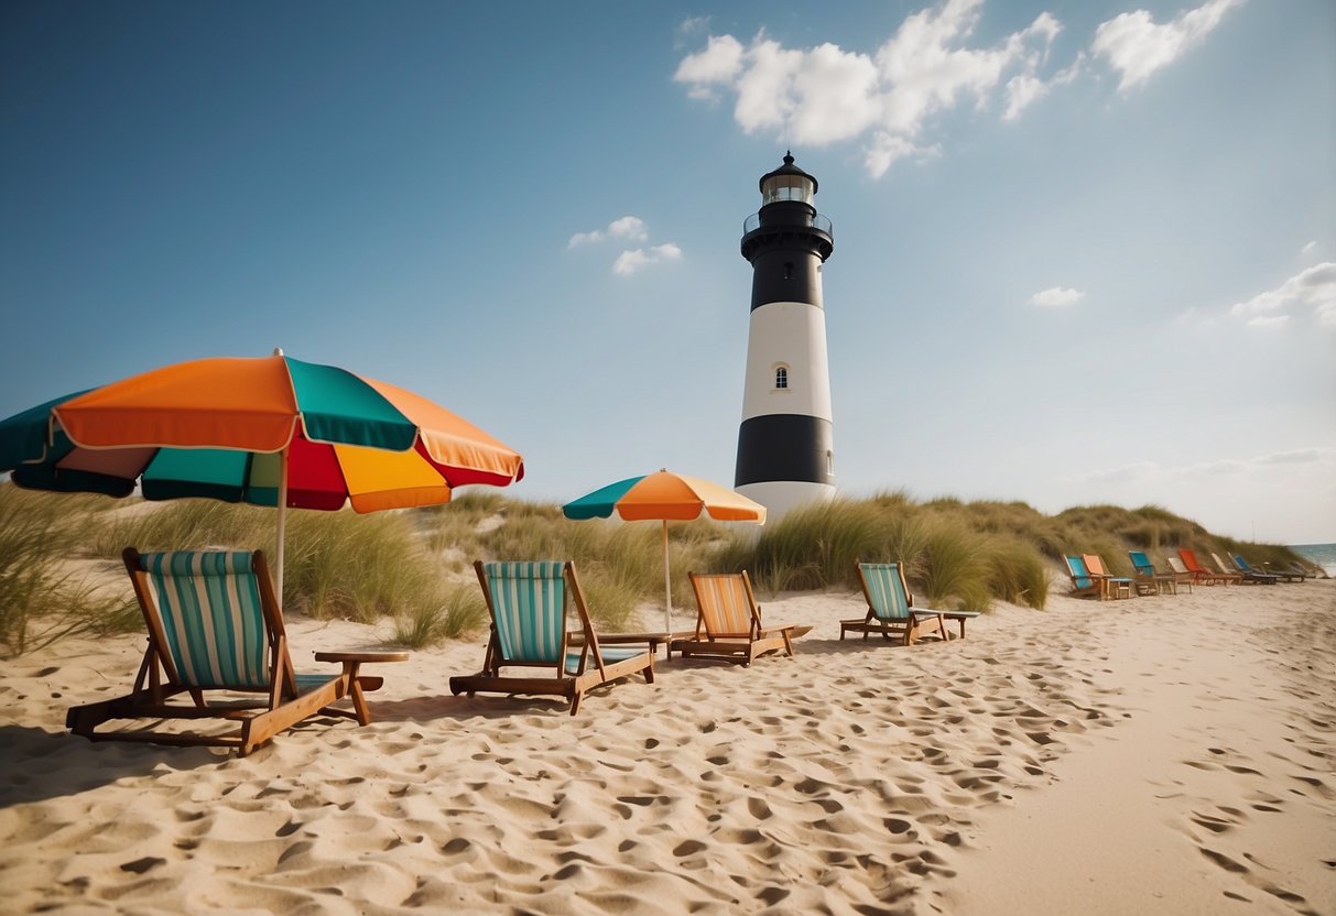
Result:
{"type": "Polygon", "coordinates": [[[816,178],[786,154],[783,166],[762,175],[760,211],[743,223],[752,304],[733,485],[771,519],[835,495],[822,300],[822,266],[835,236],[815,196],[816,178]]]}

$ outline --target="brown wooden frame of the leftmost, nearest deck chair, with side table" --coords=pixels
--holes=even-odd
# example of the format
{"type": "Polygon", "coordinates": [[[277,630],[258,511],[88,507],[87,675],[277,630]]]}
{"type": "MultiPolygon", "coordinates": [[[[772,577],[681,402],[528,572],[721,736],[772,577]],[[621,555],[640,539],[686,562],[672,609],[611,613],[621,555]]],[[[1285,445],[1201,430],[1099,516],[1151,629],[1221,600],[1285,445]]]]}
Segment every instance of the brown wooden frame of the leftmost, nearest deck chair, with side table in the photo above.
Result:
{"type": "MultiPolygon", "coordinates": [[[[183,554],[168,554],[183,555],[183,554]]],[[[218,553],[200,551],[200,555],[216,557],[218,553]]],[[[236,551],[232,555],[246,557],[236,551]]],[[[73,706],[65,714],[65,728],[90,740],[150,741],[170,745],[208,745],[234,748],[238,756],[244,756],[273,738],[279,732],[291,728],[311,716],[339,716],[355,718],[366,725],[371,721],[366,705],[366,693],[377,690],[383,684],[379,677],[359,673],[359,666],[367,661],[403,661],[407,653],[315,653],[317,661],[331,661],[342,665],[342,672],[329,674],[298,674],[289,654],[287,630],[283,613],[274,594],[274,581],[269,574],[265,554],[259,550],[248,554],[248,571],[228,571],[232,578],[254,577],[258,590],[258,610],[262,620],[253,621],[263,628],[266,642],[267,670],[261,681],[227,682],[216,677],[190,677],[178,670],[174,661],[172,644],[168,641],[163,624],[163,610],[155,597],[156,586],[152,576],[144,569],[144,554],[134,547],[126,547],[122,559],[135,590],[135,598],[144,616],[148,629],[148,648],[131,693],[114,700],[73,706]],[[222,700],[207,697],[226,692],[222,700]],[[263,698],[248,698],[244,694],[263,694],[263,698]],[[190,704],[172,702],[174,697],[187,694],[190,704]],[[353,709],[334,708],[331,704],[349,698],[353,709]],[[98,726],[111,720],[223,720],[236,722],[236,730],[211,734],[202,732],[166,732],[155,729],[99,732],[98,726]]],[[[243,613],[254,612],[247,606],[243,613]]],[[[223,613],[214,605],[202,606],[202,620],[214,620],[223,613]]],[[[190,650],[180,646],[178,652],[188,656],[190,650]]],[[[203,668],[203,666],[202,666],[203,668]]]]}

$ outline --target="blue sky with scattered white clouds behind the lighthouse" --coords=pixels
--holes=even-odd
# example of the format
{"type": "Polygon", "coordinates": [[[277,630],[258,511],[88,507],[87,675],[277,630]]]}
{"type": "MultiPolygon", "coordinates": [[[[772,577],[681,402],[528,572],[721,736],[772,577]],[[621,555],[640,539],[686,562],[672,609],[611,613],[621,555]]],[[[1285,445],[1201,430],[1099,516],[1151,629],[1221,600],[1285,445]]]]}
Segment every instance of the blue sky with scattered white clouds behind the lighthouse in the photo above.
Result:
{"type": "Polygon", "coordinates": [[[1336,541],[1336,5],[0,5],[0,417],[210,355],[732,482],[792,148],[848,495],[1336,541]]]}

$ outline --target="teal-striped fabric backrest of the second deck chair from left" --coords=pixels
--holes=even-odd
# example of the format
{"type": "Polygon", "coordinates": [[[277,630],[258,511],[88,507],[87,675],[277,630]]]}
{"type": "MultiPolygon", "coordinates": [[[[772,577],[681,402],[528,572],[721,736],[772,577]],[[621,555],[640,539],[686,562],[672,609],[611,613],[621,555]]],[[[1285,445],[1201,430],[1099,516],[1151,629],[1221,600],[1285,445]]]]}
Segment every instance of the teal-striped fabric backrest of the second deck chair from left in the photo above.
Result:
{"type": "Polygon", "coordinates": [[[506,661],[560,664],[566,636],[566,563],[476,563],[506,661]]]}

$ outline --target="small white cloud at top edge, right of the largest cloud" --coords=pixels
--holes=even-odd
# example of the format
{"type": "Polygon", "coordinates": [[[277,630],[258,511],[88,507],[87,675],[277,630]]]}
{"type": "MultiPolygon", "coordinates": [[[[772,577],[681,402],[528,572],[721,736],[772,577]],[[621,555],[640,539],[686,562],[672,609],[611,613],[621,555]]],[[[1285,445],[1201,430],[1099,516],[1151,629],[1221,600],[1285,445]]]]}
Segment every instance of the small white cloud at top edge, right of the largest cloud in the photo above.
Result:
{"type": "Polygon", "coordinates": [[[1197,47],[1230,8],[1244,0],[1209,0],[1180,13],[1172,23],[1156,23],[1145,9],[1120,13],[1096,29],[1090,51],[1104,57],[1122,76],[1120,91],[1136,88],[1150,76],[1197,47]]]}

